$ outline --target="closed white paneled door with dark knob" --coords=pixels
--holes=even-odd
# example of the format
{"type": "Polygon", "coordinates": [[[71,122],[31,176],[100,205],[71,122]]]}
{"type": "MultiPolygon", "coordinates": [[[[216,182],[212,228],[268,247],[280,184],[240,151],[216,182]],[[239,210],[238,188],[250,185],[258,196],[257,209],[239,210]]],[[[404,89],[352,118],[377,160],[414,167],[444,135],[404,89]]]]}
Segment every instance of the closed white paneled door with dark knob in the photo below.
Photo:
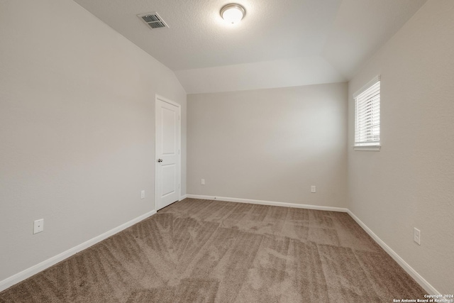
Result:
{"type": "Polygon", "coordinates": [[[156,210],[179,199],[180,106],[156,97],[156,210]]]}

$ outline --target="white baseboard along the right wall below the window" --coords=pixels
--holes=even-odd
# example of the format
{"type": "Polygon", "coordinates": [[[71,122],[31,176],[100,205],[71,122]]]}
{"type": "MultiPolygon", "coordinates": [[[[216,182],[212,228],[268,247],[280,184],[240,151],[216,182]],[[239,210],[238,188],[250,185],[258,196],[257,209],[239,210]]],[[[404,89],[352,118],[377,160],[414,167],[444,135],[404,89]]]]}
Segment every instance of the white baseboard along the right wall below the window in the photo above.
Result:
{"type": "Polygon", "coordinates": [[[362,227],[362,229],[364,229],[365,232],[368,233],[369,236],[371,236],[372,239],[374,239],[374,241],[377,242],[377,244],[380,245],[384,249],[384,251],[388,253],[388,255],[390,255],[402,268],[404,268],[404,270],[409,275],[411,275],[411,277],[414,278],[414,280],[418,282],[418,284],[421,285],[421,287],[423,287],[423,289],[426,290],[426,292],[428,292],[428,294],[441,294],[429,282],[427,282],[426,279],[419,275],[419,273],[416,272],[416,270],[411,268],[411,266],[408,263],[406,263],[405,260],[402,259],[400,255],[398,255],[394,250],[392,250],[392,248],[387,246],[387,244],[384,243],[384,241],[382,241],[382,239],[380,239],[372,230],[370,230],[370,228],[368,228],[364,223],[362,223],[362,221],[357,216],[355,216],[355,214],[353,214],[353,212],[350,211],[350,209],[347,212],[356,221],[356,223],[358,223],[362,227]]]}

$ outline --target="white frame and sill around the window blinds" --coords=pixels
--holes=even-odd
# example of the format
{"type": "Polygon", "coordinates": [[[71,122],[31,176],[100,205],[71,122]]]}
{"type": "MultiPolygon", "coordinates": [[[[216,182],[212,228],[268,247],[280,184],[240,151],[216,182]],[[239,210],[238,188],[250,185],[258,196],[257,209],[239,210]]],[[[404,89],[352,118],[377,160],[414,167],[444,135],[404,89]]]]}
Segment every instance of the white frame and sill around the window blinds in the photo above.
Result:
{"type": "MultiPolygon", "coordinates": [[[[381,79],[380,75],[377,75],[374,77],[372,80],[367,82],[363,87],[361,87],[355,94],[353,94],[353,101],[354,101],[354,106],[355,106],[355,121],[354,121],[354,133],[353,133],[353,149],[354,150],[364,150],[364,151],[380,151],[380,148],[382,147],[381,145],[381,133],[380,133],[380,121],[381,121],[381,112],[380,112],[380,107],[381,107],[381,94],[382,94],[382,84],[381,84],[381,79]],[[367,92],[369,89],[371,89],[377,82],[380,82],[379,84],[379,89],[378,89],[378,124],[375,123],[374,125],[370,126],[370,130],[372,131],[373,128],[377,128],[378,126],[378,141],[362,141],[362,142],[357,142],[357,133],[358,133],[358,97],[361,97],[361,95],[365,92],[367,92]]],[[[367,99],[365,99],[367,100],[367,99]]],[[[365,103],[365,100],[362,100],[362,104],[365,103]]],[[[377,101],[375,101],[376,103],[377,101]]],[[[372,103],[373,104],[373,103],[372,103]]],[[[361,104],[360,104],[361,105],[361,104]]],[[[363,105],[364,106],[364,105],[363,105]]],[[[367,106],[367,105],[365,105],[367,106]]],[[[373,109],[372,109],[373,110],[373,109]]],[[[376,120],[376,119],[375,119],[376,120]]],[[[363,126],[362,128],[367,128],[367,126],[363,126]]],[[[376,131],[376,129],[375,129],[376,131]]]]}

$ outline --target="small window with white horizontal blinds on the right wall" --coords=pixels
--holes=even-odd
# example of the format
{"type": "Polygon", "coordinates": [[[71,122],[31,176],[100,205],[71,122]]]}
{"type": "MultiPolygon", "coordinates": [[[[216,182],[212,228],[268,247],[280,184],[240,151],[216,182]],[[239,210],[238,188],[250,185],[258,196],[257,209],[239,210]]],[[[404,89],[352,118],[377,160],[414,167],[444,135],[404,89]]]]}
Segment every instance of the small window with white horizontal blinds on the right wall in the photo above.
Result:
{"type": "Polygon", "coordinates": [[[355,150],[380,150],[380,76],[362,87],[355,99],[355,150]]]}

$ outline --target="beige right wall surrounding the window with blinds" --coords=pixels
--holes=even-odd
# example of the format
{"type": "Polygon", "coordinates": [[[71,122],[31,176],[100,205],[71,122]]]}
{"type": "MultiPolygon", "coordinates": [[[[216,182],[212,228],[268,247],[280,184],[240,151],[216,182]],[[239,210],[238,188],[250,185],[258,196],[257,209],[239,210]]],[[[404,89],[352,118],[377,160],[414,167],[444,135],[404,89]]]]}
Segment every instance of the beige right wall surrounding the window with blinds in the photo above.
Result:
{"type": "Polygon", "coordinates": [[[378,153],[348,152],[348,208],[438,292],[454,292],[454,1],[429,0],[349,84],[381,75],[378,153]],[[421,230],[421,246],[413,228],[421,230]]]}

